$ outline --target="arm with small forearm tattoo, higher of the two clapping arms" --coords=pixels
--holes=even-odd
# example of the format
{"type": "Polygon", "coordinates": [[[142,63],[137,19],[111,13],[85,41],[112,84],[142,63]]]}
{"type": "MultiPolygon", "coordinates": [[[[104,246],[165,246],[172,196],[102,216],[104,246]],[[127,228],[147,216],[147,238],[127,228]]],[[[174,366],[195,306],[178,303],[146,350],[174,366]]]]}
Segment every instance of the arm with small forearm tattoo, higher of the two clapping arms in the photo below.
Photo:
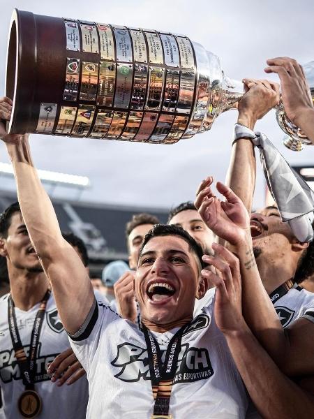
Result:
{"type": "MultiPolygon", "coordinates": [[[[211,183],[212,178],[208,178],[200,184],[195,207],[207,226],[229,242],[239,258],[242,311],[246,323],[286,374],[314,374],[314,323],[301,318],[290,330],[283,330],[257,270],[246,208],[230,188],[218,182],[218,192],[226,199],[220,202],[211,191],[211,183]]],[[[220,248],[215,247],[215,251],[217,249],[220,248]]],[[[204,257],[212,264],[210,257],[204,257]]]]}

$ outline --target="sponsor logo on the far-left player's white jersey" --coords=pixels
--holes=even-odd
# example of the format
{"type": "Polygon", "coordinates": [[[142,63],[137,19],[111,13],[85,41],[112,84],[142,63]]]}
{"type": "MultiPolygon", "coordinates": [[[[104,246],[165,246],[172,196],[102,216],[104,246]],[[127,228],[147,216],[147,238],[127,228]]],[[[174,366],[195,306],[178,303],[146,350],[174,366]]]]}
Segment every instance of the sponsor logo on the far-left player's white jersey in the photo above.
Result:
{"type": "MultiPolygon", "coordinates": [[[[47,374],[47,365],[56,358],[58,353],[51,353],[49,355],[40,355],[40,346],[38,344],[38,354],[36,357],[36,375],[35,382],[50,380],[52,374],[47,374]]],[[[29,356],[29,345],[24,346],[24,351],[29,356]]],[[[3,383],[10,383],[13,380],[22,380],[20,368],[17,365],[15,352],[13,349],[10,351],[0,352],[0,379],[3,383]]]]}

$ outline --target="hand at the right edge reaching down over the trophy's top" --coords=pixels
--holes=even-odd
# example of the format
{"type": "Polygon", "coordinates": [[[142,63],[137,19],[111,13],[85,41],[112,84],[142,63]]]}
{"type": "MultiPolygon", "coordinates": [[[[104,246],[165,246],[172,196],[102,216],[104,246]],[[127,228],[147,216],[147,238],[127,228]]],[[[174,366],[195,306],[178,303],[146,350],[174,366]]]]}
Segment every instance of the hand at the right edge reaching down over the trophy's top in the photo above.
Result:
{"type": "Polygon", "coordinates": [[[266,73],[277,73],[281,80],[281,97],[287,117],[297,126],[307,110],[313,109],[310,89],[302,66],[292,58],[278,57],[267,60],[266,73]]]}

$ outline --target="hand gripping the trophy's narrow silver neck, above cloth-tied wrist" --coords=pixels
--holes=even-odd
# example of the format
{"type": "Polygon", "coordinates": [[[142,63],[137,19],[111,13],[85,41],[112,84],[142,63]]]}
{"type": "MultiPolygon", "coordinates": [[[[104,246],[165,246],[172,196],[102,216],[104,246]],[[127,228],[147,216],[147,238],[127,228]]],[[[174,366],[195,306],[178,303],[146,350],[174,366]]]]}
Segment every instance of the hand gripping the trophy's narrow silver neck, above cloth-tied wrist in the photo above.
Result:
{"type": "Polygon", "coordinates": [[[238,122],[252,129],[257,119],[279,103],[279,84],[268,80],[244,79],[244,94],[239,101],[238,122]]]}

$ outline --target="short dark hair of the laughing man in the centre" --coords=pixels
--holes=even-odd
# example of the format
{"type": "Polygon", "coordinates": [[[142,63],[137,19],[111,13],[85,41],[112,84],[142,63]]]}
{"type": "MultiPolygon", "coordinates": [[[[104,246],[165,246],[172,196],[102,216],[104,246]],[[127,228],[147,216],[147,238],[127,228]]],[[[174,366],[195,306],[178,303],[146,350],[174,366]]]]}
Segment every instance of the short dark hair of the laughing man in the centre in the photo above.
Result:
{"type": "Polygon", "coordinates": [[[186,230],[179,226],[175,225],[169,225],[169,224],[156,224],[147,235],[145,235],[144,240],[142,242],[142,246],[140,247],[140,256],[142,254],[142,251],[144,249],[145,244],[149,242],[154,237],[159,236],[167,236],[167,235],[176,235],[181,237],[183,240],[185,240],[188,243],[188,249],[190,251],[193,251],[195,255],[197,256],[197,259],[200,260],[200,265],[203,268],[206,266],[206,264],[202,260],[203,251],[202,247],[200,247],[200,244],[196,242],[196,240],[191,237],[186,230]]]}

